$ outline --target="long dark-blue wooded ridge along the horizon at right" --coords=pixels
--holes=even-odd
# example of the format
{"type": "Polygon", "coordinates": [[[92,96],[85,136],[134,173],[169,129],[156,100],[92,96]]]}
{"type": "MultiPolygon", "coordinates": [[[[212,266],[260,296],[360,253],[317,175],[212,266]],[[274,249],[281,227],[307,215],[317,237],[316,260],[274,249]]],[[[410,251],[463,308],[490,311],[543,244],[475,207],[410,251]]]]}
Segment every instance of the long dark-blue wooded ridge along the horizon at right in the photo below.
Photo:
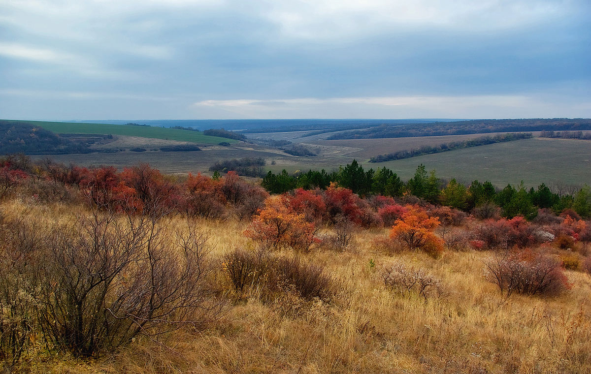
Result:
{"type": "Polygon", "coordinates": [[[433,122],[417,125],[382,125],[363,131],[339,132],[327,139],[409,138],[413,136],[440,136],[486,134],[489,132],[591,130],[591,119],[484,119],[475,121],[433,122]]]}

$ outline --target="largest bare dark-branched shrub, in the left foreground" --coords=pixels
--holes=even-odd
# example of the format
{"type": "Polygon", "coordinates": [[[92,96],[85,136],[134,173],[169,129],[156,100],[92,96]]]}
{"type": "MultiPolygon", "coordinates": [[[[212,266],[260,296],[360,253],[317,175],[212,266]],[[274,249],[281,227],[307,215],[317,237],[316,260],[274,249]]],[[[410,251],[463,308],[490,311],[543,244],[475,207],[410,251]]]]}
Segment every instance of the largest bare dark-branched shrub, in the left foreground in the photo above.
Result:
{"type": "Polygon", "coordinates": [[[46,338],[96,356],[138,334],[156,337],[212,320],[222,303],[209,282],[206,237],[190,227],[172,240],[145,216],[81,217],[46,239],[38,294],[46,338]]]}

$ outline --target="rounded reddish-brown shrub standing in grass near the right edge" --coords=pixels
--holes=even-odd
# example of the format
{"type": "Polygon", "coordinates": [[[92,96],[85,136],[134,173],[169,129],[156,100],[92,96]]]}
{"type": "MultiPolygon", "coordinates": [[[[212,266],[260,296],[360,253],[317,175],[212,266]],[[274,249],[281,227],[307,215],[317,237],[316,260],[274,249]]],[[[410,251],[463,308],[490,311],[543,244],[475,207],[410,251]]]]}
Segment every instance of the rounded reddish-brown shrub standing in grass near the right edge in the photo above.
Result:
{"type": "Polygon", "coordinates": [[[528,251],[489,259],[486,279],[507,296],[513,292],[553,296],[570,289],[559,262],[528,251]]]}

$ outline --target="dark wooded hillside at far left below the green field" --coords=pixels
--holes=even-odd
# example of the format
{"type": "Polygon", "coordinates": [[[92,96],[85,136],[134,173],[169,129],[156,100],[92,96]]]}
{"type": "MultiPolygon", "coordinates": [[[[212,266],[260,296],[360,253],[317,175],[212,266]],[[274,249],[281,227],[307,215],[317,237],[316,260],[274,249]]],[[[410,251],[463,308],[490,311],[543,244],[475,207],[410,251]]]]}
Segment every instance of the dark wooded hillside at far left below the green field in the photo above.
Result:
{"type": "Polygon", "coordinates": [[[0,121],[0,150],[2,154],[57,155],[90,153],[84,142],[76,142],[57,136],[39,126],[0,121]]]}

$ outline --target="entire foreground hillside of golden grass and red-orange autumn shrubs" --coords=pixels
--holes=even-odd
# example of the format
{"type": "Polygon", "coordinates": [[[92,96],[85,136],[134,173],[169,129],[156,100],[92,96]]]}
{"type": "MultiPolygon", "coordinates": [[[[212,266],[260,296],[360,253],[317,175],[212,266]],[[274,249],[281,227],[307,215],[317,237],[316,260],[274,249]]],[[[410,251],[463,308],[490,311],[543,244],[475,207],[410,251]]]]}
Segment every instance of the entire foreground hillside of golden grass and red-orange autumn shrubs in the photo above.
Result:
{"type": "Polygon", "coordinates": [[[365,188],[356,165],[269,194],[233,172],[1,162],[6,372],[591,370],[584,187],[556,212],[543,187],[421,169],[382,171],[402,190],[385,196],[346,187],[365,188]]]}

